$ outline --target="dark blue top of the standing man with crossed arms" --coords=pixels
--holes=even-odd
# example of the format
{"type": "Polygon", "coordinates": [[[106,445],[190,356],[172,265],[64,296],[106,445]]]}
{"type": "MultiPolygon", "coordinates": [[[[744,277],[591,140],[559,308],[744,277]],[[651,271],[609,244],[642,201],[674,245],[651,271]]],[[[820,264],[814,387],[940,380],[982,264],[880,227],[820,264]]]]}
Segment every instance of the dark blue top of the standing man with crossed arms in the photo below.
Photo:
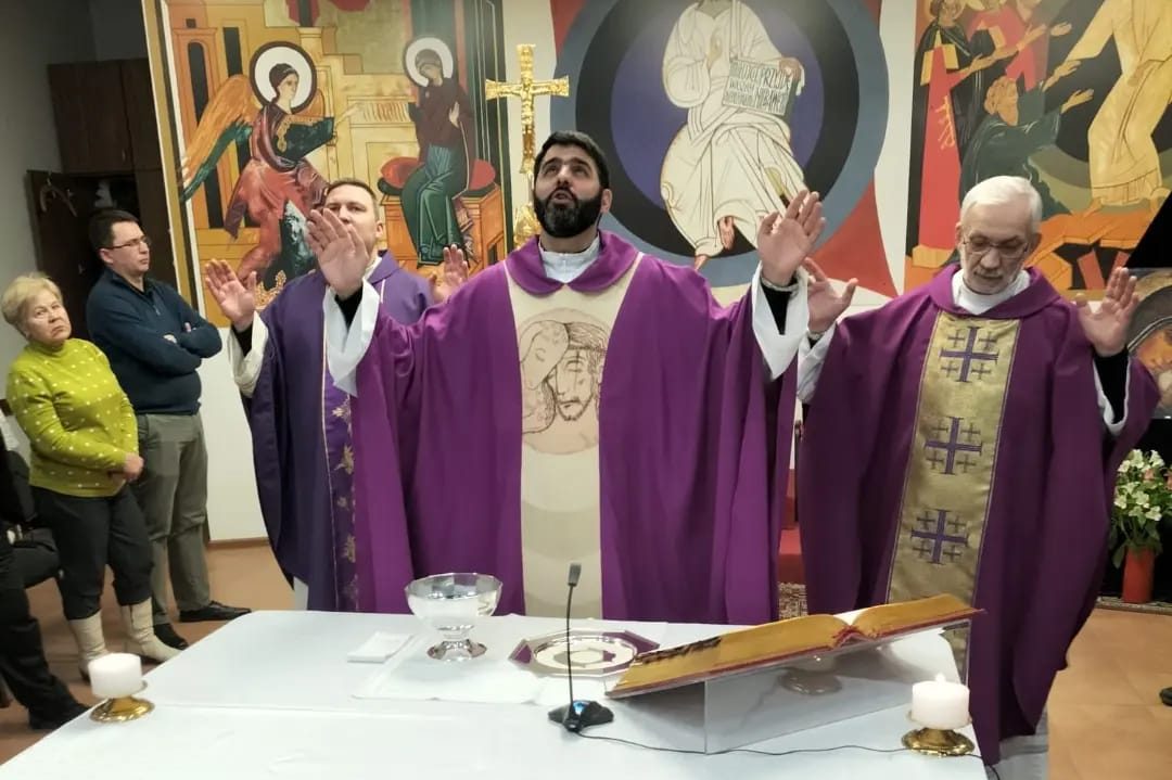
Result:
{"type": "Polygon", "coordinates": [[[196,369],[224,344],[173,287],[148,279],[138,292],[107,269],[89,293],[86,323],[136,415],[199,411],[196,369]]]}

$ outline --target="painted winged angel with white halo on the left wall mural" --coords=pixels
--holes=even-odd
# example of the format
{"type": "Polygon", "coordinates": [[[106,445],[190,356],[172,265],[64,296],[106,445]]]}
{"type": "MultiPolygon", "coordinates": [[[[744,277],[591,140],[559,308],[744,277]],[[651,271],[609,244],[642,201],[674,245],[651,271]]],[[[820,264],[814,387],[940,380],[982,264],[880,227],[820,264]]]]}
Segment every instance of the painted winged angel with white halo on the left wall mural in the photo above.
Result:
{"type": "Polygon", "coordinates": [[[180,198],[189,200],[203,186],[226,149],[248,142],[248,162],[225,208],[224,228],[237,239],[245,215],[257,225],[257,245],[237,274],[243,279],[254,271],[271,289],[279,273],[292,279],[312,266],[305,220],[328,182],[306,156],[328,143],[359,107],[336,117],[302,114],[318,95],[316,76],[309,55],[292,43],[259,48],[250,70],[251,78],[239,74],[222,83],[204,110],[183,157],[180,198]]]}

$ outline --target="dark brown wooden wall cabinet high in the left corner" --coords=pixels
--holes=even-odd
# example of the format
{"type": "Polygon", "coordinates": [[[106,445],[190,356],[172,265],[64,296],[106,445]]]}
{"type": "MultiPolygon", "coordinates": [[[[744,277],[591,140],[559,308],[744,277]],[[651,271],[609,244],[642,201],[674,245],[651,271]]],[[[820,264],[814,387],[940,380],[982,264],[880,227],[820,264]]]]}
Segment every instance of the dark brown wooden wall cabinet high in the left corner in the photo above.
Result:
{"type": "Polygon", "coordinates": [[[49,91],[62,171],[162,167],[146,60],[52,64],[49,91]]]}

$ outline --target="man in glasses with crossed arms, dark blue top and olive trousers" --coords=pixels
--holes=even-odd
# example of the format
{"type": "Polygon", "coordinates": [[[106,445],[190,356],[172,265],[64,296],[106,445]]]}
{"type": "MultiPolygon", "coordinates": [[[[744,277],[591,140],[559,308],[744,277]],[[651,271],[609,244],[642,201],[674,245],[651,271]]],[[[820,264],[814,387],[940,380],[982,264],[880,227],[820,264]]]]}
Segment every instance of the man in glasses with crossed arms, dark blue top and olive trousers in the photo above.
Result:
{"type": "Polygon", "coordinates": [[[135,408],[145,461],[132,487],[155,556],[155,635],[182,650],[186,642],[166,613],[169,569],[179,621],[225,621],[248,611],[212,601],[204,559],[207,450],[196,369],[223,343],[173,287],[148,279],[150,239],[134,214],[95,214],[89,238],[107,271],[90,290],[87,326],[135,408]]]}

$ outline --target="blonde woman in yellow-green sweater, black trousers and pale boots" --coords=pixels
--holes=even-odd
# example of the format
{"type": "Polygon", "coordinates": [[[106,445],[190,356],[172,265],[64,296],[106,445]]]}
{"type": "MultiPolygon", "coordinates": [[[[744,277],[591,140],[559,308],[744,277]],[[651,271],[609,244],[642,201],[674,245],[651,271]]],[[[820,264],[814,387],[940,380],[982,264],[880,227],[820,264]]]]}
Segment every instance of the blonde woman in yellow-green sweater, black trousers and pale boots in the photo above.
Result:
{"type": "Polygon", "coordinates": [[[97,347],[69,337],[61,290],[49,279],[19,276],[0,309],[28,340],[8,370],[8,404],[32,445],[28,481],[36,514],[57,543],[57,587],[82,673],[107,652],[100,613],[107,566],[128,651],[171,658],[178,651],[155,637],[150,540],[127,488],[143,471],[130,402],[97,347]]]}

